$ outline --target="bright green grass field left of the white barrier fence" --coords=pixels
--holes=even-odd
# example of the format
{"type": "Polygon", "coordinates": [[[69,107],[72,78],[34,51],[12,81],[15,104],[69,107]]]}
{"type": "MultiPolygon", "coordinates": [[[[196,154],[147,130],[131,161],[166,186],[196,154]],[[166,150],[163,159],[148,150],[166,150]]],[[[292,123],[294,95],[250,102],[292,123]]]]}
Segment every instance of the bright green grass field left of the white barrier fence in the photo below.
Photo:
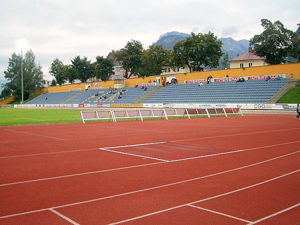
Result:
{"type": "Polygon", "coordinates": [[[77,122],[80,110],[0,108],[0,125],[77,122]]]}

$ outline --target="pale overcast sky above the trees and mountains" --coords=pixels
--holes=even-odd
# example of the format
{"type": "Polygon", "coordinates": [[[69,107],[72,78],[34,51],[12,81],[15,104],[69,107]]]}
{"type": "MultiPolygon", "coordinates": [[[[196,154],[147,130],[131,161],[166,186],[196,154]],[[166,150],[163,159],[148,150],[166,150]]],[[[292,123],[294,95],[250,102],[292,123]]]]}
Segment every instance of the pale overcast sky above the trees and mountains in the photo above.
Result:
{"type": "Polygon", "coordinates": [[[299,9],[299,0],[1,0],[0,79],[11,53],[20,52],[19,39],[52,79],[55,57],[65,64],[78,54],[94,61],[130,39],[147,47],[169,31],[250,39],[261,33],[261,18],[296,30],[299,9]]]}

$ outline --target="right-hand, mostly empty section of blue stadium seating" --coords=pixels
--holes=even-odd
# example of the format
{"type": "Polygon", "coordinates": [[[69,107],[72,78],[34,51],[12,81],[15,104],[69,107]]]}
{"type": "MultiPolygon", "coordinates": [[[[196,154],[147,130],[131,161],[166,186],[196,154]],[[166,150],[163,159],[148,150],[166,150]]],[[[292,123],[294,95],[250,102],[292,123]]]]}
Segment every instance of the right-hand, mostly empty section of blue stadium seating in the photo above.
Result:
{"type": "Polygon", "coordinates": [[[245,82],[210,82],[167,85],[143,103],[264,103],[286,82],[281,80],[246,80],[245,82]]]}

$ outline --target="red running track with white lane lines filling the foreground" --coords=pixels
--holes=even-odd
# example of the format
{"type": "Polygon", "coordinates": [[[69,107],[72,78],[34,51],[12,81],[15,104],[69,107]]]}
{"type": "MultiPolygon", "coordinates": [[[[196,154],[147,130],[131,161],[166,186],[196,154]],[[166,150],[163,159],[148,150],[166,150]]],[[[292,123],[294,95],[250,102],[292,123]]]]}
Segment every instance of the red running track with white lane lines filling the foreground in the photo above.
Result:
{"type": "Polygon", "coordinates": [[[0,223],[297,224],[299,130],[291,115],[0,127],[0,223]]]}

